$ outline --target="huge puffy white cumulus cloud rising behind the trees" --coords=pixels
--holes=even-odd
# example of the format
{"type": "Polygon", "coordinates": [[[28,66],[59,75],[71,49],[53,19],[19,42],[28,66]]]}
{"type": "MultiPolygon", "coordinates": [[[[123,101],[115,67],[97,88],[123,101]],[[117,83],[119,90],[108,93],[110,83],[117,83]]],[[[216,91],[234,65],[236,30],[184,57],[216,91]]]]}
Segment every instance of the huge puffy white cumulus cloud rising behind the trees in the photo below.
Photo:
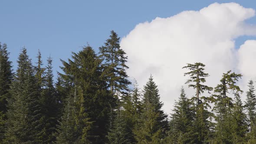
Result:
{"type": "Polygon", "coordinates": [[[237,50],[234,39],[256,34],[256,27],[245,23],[254,15],[255,10],[237,3],[213,3],[199,11],[139,23],[120,43],[128,56],[128,75],[143,88],[152,74],[167,113],[171,112],[182,85],[187,96],[195,95],[184,84],[187,77],[183,74],[187,70],[181,68],[186,63],[204,63],[205,72],[210,74],[206,85],[212,87],[230,69],[253,77],[256,69],[250,65],[255,61],[256,41],[246,41],[237,50]]]}

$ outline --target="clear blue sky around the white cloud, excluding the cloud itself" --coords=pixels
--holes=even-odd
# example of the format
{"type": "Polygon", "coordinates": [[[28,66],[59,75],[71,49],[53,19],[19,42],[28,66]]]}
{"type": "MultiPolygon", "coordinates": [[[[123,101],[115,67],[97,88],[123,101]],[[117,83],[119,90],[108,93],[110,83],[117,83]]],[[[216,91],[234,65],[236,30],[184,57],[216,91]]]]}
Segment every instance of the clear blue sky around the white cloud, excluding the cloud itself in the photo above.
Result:
{"type": "MultiPolygon", "coordinates": [[[[0,42],[7,43],[14,68],[25,46],[33,62],[40,49],[44,62],[51,55],[54,70],[59,71],[59,59],[66,60],[87,42],[96,50],[112,29],[123,37],[138,23],[200,10],[214,2],[236,2],[256,9],[252,0],[2,0],[0,42]]],[[[248,21],[256,23],[256,18],[248,21]]],[[[237,46],[246,39],[248,36],[237,39],[237,46]]]]}

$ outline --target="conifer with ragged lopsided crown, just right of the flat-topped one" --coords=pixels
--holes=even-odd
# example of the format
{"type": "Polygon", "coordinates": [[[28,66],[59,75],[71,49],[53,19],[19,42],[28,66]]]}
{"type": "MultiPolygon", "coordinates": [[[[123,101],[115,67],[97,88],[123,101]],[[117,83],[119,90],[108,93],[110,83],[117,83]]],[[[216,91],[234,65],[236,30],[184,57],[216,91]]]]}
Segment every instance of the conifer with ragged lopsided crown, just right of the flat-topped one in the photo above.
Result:
{"type": "Polygon", "coordinates": [[[238,79],[242,77],[241,74],[223,73],[220,84],[214,88],[214,95],[212,96],[215,112],[215,120],[217,121],[215,127],[215,137],[216,141],[219,143],[231,143],[233,141],[230,131],[232,131],[232,98],[228,97],[227,94],[236,94],[242,92],[239,86],[236,85],[238,79]],[[230,92],[229,92],[230,91],[230,92]]]}

